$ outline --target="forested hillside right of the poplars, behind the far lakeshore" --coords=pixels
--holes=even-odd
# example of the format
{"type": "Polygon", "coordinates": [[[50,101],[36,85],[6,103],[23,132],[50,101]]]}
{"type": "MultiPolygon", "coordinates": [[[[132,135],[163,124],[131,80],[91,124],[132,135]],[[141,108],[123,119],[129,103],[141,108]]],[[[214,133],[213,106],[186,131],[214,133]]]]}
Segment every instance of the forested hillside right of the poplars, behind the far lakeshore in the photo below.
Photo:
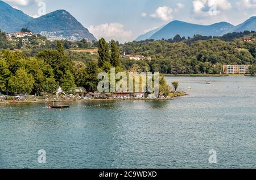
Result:
{"type": "MultiPolygon", "coordinates": [[[[254,33],[250,35],[254,37],[254,33]]],[[[168,40],[133,41],[121,45],[119,49],[126,54],[152,58],[151,61],[125,59],[122,64],[126,70],[136,68],[138,71],[164,74],[220,74],[222,65],[254,65],[255,47],[255,42],[243,42],[241,39],[222,41],[209,38],[193,43],[182,40],[175,43],[168,40]]]]}

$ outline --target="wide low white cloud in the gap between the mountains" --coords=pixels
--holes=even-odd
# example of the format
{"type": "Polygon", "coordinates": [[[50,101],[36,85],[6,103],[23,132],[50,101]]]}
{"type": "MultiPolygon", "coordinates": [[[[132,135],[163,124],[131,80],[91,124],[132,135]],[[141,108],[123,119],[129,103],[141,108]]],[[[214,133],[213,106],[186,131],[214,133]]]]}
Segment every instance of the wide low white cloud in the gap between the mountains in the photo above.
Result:
{"type": "Polygon", "coordinates": [[[121,43],[131,40],[133,34],[131,31],[124,30],[123,24],[120,23],[106,23],[90,26],[88,29],[97,39],[104,37],[107,41],[114,39],[121,43]]]}

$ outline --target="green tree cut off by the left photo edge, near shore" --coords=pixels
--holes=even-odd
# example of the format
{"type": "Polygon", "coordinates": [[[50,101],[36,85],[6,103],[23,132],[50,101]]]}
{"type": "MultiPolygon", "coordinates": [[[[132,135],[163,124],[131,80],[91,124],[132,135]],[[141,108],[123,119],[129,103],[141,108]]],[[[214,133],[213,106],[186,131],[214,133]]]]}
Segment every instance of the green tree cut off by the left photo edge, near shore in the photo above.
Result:
{"type": "Polygon", "coordinates": [[[6,91],[7,78],[10,76],[10,71],[4,60],[0,58],[0,91],[6,91]]]}

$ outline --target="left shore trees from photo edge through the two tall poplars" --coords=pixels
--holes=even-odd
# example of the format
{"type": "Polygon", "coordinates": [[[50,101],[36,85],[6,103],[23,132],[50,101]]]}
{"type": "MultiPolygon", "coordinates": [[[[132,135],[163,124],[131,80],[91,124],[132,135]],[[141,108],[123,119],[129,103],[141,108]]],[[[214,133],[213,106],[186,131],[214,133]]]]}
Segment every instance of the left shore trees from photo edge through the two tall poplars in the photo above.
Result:
{"type": "Polygon", "coordinates": [[[19,51],[2,50],[0,53],[0,91],[11,94],[53,93],[61,86],[66,93],[74,93],[76,86],[96,91],[98,73],[111,67],[121,69],[118,46],[112,40],[99,43],[98,59],[72,61],[63,43],[56,41],[55,49],[46,49],[35,57],[27,57],[19,51]]]}

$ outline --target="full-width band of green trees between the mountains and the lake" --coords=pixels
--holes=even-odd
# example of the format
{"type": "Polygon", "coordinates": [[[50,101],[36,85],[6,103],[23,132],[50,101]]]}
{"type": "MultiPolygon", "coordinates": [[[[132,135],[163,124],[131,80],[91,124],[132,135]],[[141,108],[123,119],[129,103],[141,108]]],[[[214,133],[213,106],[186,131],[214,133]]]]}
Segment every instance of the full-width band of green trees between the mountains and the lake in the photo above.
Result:
{"type": "MultiPolygon", "coordinates": [[[[172,40],[133,41],[125,44],[114,40],[106,42],[102,38],[90,44],[98,47],[98,53],[91,55],[70,51],[72,43],[69,41],[48,42],[40,47],[28,48],[28,51],[24,48],[21,51],[10,51],[5,32],[0,32],[0,48],[3,49],[0,52],[0,91],[9,91],[11,94],[53,93],[59,86],[67,93],[73,93],[76,86],[96,91],[98,73],[109,73],[112,67],[116,68],[116,72],[220,74],[222,65],[247,64],[252,65],[251,74],[254,75],[256,42],[243,42],[239,39],[245,34],[255,37],[255,32],[222,36],[235,38],[232,41],[200,35],[186,39],[177,35],[172,40]],[[120,53],[123,52],[151,56],[151,60],[121,60],[120,53]]],[[[86,40],[74,43],[81,48],[88,45],[86,40]]],[[[170,87],[163,77],[160,80],[160,93],[163,94],[170,87]]]]}

